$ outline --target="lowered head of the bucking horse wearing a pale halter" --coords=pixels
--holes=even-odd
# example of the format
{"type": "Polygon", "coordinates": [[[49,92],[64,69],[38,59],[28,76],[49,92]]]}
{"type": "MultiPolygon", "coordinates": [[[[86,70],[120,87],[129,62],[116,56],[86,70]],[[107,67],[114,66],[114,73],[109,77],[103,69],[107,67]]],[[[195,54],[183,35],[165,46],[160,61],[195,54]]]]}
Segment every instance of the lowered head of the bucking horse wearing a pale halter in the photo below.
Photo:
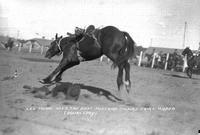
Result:
{"type": "Polygon", "coordinates": [[[61,40],[62,40],[62,36],[58,37],[58,35],[56,34],[55,40],[51,42],[51,45],[45,54],[45,58],[50,59],[55,55],[62,54],[61,44],[60,44],[61,40]]]}

